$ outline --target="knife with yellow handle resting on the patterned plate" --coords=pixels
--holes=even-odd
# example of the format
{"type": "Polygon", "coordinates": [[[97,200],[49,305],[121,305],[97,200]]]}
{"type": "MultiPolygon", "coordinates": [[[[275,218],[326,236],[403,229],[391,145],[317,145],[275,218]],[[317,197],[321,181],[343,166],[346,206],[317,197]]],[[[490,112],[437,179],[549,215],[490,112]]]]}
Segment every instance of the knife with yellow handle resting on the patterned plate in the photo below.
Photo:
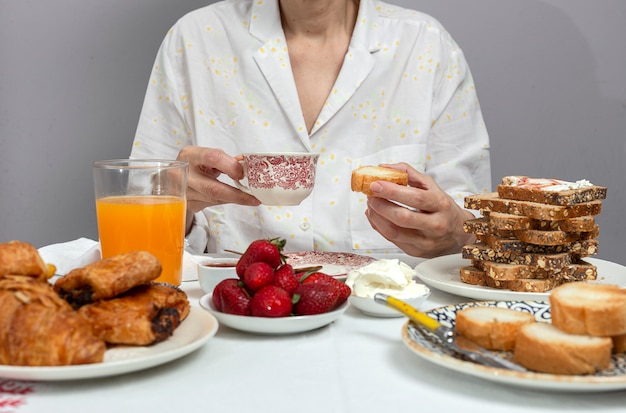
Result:
{"type": "Polygon", "coordinates": [[[457,334],[454,329],[444,326],[428,314],[417,310],[402,300],[382,293],[376,293],[374,300],[404,314],[422,334],[433,337],[444,347],[462,354],[478,364],[514,371],[528,371],[519,364],[480,347],[473,341],[457,334]]]}

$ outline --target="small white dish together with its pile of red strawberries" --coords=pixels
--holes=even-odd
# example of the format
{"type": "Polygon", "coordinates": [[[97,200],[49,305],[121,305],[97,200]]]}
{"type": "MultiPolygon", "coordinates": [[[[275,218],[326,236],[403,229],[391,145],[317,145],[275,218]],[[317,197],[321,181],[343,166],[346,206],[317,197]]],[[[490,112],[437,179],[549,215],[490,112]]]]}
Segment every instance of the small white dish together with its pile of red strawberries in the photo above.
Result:
{"type": "Polygon", "coordinates": [[[237,277],[220,281],[200,305],[225,326],[259,334],[300,333],[335,321],[350,305],[350,287],[315,270],[297,272],[285,262],[284,246],[279,238],[252,242],[237,262],[237,277]]]}

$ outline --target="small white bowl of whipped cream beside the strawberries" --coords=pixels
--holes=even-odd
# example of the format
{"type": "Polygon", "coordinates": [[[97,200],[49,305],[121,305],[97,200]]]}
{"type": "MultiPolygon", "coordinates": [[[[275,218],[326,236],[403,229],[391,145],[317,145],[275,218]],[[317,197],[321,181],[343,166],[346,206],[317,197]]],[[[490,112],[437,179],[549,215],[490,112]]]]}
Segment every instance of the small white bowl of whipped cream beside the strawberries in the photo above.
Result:
{"type": "Polygon", "coordinates": [[[389,307],[374,301],[376,293],[396,297],[415,308],[426,301],[430,289],[418,283],[417,274],[399,259],[380,259],[348,273],[346,285],[352,289],[350,303],[373,317],[403,317],[389,307]]]}

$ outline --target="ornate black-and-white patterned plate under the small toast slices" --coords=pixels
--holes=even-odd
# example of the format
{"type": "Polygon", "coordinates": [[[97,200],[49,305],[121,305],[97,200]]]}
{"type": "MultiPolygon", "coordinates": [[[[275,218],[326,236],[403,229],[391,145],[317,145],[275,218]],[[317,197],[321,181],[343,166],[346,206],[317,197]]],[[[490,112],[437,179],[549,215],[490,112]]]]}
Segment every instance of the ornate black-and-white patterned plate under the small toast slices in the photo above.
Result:
{"type": "MultiPolygon", "coordinates": [[[[537,321],[550,321],[550,306],[540,301],[484,301],[439,307],[426,313],[440,323],[453,327],[456,312],[468,306],[497,306],[528,311],[537,321]]],[[[613,368],[594,375],[557,375],[535,372],[517,372],[495,367],[483,366],[467,361],[455,353],[444,349],[439,343],[424,336],[409,334],[414,329],[410,322],[402,327],[402,341],[416,355],[439,366],[480,377],[498,383],[533,388],[538,390],[557,390],[572,392],[598,392],[626,389],[626,354],[612,356],[613,368]]]]}

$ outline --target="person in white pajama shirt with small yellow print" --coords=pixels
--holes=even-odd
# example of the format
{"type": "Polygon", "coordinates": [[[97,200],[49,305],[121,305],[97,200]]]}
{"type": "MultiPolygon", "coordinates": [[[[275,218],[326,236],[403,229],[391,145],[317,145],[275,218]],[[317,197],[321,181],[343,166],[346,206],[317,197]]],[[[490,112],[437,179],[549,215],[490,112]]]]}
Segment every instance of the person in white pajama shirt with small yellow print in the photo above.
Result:
{"type": "Polygon", "coordinates": [[[158,51],[133,158],[190,163],[188,245],[420,257],[460,251],[466,195],[490,191],[489,138],[462,50],[432,17],[376,0],[226,0],[183,16],[158,51]],[[239,191],[243,152],[320,154],[299,206],[239,191]],[[409,187],[350,190],[360,165],[409,187]],[[401,204],[401,205],[399,205],[401,204]]]}

